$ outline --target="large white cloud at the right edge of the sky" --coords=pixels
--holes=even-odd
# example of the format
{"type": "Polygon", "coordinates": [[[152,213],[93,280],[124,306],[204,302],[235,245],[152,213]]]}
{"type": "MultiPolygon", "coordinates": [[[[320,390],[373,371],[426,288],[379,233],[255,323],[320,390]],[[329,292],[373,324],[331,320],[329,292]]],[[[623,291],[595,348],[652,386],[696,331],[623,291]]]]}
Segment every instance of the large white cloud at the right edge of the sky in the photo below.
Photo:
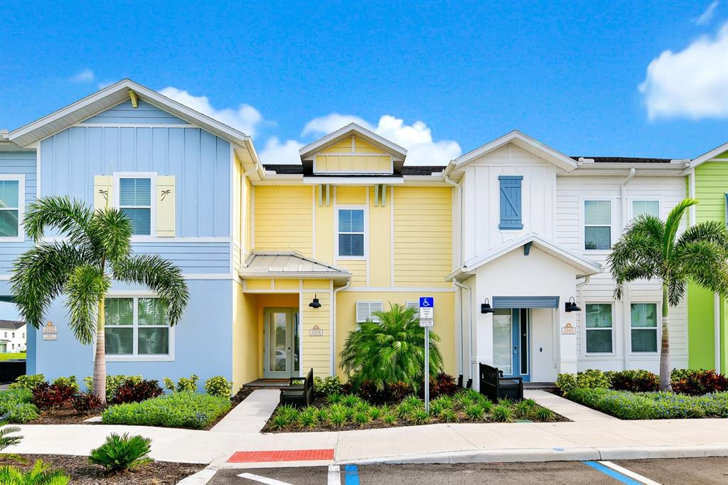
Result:
{"type": "Polygon", "coordinates": [[[728,23],[680,52],[665,50],[647,66],[639,90],[649,119],[728,117],[728,23]]]}

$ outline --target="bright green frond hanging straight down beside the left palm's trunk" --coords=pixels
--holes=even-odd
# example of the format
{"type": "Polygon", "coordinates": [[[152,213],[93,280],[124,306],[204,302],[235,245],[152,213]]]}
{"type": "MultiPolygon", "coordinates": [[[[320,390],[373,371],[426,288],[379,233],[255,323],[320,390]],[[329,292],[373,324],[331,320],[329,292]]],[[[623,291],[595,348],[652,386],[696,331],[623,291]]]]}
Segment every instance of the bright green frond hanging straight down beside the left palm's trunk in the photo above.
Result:
{"type": "Polygon", "coordinates": [[[68,326],[82,344],[93,342],[98,316],[98,302],[106,296],[111,280],[95,266],[77,266],[68,277],[68,326]]]}

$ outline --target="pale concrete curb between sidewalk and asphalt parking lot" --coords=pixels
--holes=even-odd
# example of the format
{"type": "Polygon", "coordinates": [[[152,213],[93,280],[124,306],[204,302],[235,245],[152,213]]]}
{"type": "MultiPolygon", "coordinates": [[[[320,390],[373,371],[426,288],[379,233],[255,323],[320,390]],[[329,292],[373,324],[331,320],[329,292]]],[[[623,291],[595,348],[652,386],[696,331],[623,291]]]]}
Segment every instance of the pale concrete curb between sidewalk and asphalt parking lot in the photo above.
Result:
{"type": "Polygon", "coordinates": [[[336,460],[337,465],[355,463],[457,464],[494,462],[563,462],[591,460],[647,460],[660,458],[728,457],[728,446],[640,446],[608,448],[483,449],[467,452],[410,454],[395,457],[336,460]]]}

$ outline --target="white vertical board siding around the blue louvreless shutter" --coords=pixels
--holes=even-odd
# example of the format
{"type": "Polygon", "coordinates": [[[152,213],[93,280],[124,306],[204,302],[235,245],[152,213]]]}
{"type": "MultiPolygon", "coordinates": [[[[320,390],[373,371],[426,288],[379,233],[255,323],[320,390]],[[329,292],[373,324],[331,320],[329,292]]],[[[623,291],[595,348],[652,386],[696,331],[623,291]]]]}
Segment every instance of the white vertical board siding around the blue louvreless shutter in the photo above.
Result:
{"type": "Polygon", "coordinates": [[[467,165],[463,181],[464,260],[486,253],[529,232],[553,240],[557,170],[553,165],[510,143],[467,165]],[[523,229],[499,228],[499,176],[523,176],[523,229]]]}

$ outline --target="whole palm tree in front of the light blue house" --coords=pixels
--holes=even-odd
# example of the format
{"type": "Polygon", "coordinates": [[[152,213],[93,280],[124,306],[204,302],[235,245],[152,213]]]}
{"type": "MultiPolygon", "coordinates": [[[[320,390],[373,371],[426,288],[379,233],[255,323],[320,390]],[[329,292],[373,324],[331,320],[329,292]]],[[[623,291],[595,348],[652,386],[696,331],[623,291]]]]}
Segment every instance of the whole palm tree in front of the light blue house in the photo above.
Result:
{"type": "Polygon", "coordinates": [[[104,305],[111,280],[151,288],[175,325],[189,298],[181,271],[159,256],[132,255],[132,226],[117,208],[92,210],[68,197],[44,197],[28,208],[25,232],[36,245],[15,261],[15,304],[24,320],[39,328],[52,301],[66,294],[74,336],[84,345],[96,340],[93,392],[106,404],[104,305]],[[43,241],[46,229],[57,229],[62,238],[43,241]]]}

